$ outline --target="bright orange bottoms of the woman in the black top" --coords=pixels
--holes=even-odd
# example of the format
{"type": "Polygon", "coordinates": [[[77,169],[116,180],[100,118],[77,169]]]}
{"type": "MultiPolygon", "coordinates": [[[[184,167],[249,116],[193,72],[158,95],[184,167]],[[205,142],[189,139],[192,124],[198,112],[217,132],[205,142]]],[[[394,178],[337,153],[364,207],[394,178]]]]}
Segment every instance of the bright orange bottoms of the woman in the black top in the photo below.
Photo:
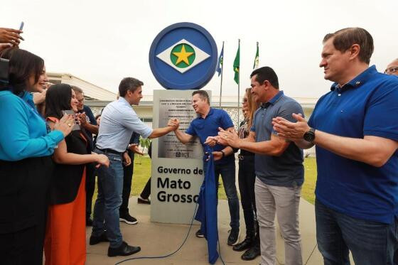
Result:
{"type": "Polygon", "coordinates": [[[74,201],[50,205],[45,231],[45,265],[84,265],[86,261],[86,169],[74,201]]]}

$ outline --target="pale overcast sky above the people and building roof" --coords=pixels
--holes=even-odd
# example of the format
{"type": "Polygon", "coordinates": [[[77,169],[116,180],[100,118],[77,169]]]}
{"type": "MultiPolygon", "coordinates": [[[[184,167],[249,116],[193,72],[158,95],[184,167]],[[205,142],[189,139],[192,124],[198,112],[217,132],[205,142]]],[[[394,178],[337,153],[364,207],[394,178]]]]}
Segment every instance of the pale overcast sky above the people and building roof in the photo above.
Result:
{"type": "MultiPolygon", "coordinates": [[[[241,94],[249,87],[256,42],[259,65],[271,66],[285,94],[320,97],[321,40],[326,33],[360,26],[375,40],[371,64],[379,71],[398,58],[398,1],[3,1],[0,27],[25,22],[21,48],[45,60],[49,72],[68,72],[113,92],[131,76],[144,94],[163,89],[148,63],[149,48],[166,26],[198,23],[224,50],[223,94],[237,94],[232,63],[241,39],[241,94]],[[106,4],[105,4],[106,3],[106,4]]],[[[220,93],[217,73],[205,89],[220,93]]]]}

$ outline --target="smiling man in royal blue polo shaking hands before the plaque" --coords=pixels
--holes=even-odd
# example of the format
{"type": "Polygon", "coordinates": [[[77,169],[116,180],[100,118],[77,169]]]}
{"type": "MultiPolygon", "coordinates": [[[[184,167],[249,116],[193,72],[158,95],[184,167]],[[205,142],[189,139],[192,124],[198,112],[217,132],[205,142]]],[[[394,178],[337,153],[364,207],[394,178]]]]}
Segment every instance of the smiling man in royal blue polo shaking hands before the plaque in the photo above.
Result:
{"type": "MultiPolygon", "coordinates": [[[[183,132],[179,129],[174,131],[178,140],[183,144],[188,144],[195,136],[198,136],[200,143],[205,147],[206,140],[209,136],[217,135],[218,128],[225,130],[233,130],[234,124],[232,119],[222,109],[213,109],[210,107],[210,99],[204,90],[196,90],[192,93],[192,107],[199,115],[190,123],[188,129],[183,132]]],[[[234,151],[229,146],[216,144],[213,146],[213,156],[215,158],[215,178],[221,175],[222,184],[224,184],[225,193],[228,199],[231,216],[231,232],[228,237],[227,244],[235,245],[239,241],[239,198],[237,197],[237,189],[235,185],[235,156],[234,151]]],[[[205,167],[204,167],[205,168],[205,167]]],[[[197,237],[204,237],[199,230],[196,232],[197,237]]]]}

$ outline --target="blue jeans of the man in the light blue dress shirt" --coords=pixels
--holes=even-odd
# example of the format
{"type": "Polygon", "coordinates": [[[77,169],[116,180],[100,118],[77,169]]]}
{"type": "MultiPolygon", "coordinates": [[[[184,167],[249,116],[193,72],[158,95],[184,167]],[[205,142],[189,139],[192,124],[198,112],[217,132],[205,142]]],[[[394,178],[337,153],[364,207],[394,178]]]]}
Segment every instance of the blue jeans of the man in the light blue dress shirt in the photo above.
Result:
{"type": "Polygon", "coordinates": [[[105,231],[112,248],[122,244],[119,227],[119,207],[122,205],[123,166],[122,156],[115,153],[103,153],[109,158],[109,168],[98,168],[98,196],[94,206],[92,235],[99,237],[105,231]]]}

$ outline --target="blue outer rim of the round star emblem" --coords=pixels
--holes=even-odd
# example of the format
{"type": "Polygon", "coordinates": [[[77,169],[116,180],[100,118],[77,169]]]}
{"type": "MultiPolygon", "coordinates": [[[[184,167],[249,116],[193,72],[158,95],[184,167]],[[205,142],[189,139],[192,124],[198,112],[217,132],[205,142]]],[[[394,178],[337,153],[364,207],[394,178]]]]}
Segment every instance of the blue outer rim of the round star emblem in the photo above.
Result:
{"type": "Polygon", "coordinates": [[[167,90],[200,90],[200,88],[204,87],[213,78],[215,74],[215,67],[217,67],[217,55],[218,55],[217,45],[215,44],[215,40],[205,28],[195,23],[181,22],[168,26],[164,28],[163,31],[158,33],[158,35],[152,42],[151,48],[149,50],[149,66],[151,67],[151,71],[154,74],[156,80],[167,90]],[[210,64],[208,72],[199,80],[195,82],[190,82],[189,87],[187,87],[187,85],[176,85],[173,84],[172,82],[169,82],[168,80],[164,79],[161,75],[158,74],[156,67],[154,66],[156,60],[155,50],[159,41],[163,38],[163,36],[175,30],[176,28],[193,28],[196,31],[199,31],[205,36],[205,38],[208,39],[212,49],[212,53],[215,54],[215,56],[212,55],[213,58],[211,58],[212,62],[210,64]]]}

